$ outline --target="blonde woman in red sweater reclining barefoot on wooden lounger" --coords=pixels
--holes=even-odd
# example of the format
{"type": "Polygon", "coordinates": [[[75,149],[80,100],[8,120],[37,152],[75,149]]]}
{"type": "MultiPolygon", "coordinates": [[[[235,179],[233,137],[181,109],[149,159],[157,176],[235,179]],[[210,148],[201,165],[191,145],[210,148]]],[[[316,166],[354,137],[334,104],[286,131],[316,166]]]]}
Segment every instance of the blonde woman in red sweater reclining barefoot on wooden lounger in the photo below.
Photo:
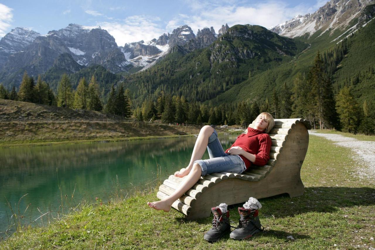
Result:
{"type": "Polygon", "coordinates": [[[275,124],[271,114],[263,112],[255,119],[254,128],[248,128],[245,134],[237,137],[231,148],[225,152],[217,138],[217,132],[211,126],[204,126],[196,139],[189,165],[174,173],[177,177],[187,176],[179,187],[166,199],[147,202],[156,210],[169,212],[172,203],[180,198],[198,181],[201,176],[210,173],[242,173],[252,163],[263,166],[267,163],[271,150],[269,131],[275,124]],[[210,159],[201,160],[207,148],[210,159]]]}

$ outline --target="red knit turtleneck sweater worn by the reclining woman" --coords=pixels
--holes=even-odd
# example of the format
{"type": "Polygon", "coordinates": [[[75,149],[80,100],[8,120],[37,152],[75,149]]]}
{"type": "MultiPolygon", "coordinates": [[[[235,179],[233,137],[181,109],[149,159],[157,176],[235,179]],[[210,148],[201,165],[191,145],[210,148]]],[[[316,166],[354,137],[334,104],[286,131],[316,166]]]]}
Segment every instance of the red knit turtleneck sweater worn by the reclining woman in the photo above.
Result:
{"type": "MultiPolygon", "coordinates": [[[[255,162],[253,164],[264,166],[270,159],[271,145],[272,142],[269,134],[249,127],[248,133],[239,135],[231,147],[240,146],[246,152],[254,154],[255,162]]],[[[228,153],[229,149],[225,153],[228,153]]],[[[248,169],[252,164],[251,161],[243,155],[240,155],[240,157],[245,162],[246,169],[248,169]]]]}

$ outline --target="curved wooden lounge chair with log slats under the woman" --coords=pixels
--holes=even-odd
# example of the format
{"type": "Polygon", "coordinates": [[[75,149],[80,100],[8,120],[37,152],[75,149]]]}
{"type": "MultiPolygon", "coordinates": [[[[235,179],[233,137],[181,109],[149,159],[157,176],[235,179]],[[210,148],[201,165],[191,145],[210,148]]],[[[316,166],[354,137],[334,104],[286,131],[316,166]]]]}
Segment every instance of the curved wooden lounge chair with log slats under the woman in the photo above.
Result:
{"type": "MultiPolygon", "coordinates": [[[[251,124],[250,127],[253,127],[251,124]]],[[[228,205],[288,193],[301,196],[305,191],[300,170],[309,145],[309,123],[303,119],[277,119],[270,131],[270,160],[263,167],[252,166],[242,174],[212,173],[205,175],[172,207],[188,220],[210,216],[211,208],[225,202],[228,205]]],[[[183,178],[169,176],[159,187],[157,197],[163,199],[178,187],[183,178]]]]}

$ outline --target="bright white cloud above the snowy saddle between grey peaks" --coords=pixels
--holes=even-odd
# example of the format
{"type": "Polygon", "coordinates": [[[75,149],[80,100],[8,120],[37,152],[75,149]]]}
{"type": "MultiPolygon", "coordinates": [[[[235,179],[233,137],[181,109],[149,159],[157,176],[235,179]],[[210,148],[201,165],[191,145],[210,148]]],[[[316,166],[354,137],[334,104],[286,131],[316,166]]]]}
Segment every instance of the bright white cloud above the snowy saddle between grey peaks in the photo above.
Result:
{"type": "Polygon", "coordinates": [[[153,38],[159,38],[165,32],[160,28],[160,24],[157,24],[159,21],[159,17],[139,15],[127,17],[122,21],[102,22],[98,25],[115,38],[118,46],[123,46],[127,42],[150,41],[153,38]]]}

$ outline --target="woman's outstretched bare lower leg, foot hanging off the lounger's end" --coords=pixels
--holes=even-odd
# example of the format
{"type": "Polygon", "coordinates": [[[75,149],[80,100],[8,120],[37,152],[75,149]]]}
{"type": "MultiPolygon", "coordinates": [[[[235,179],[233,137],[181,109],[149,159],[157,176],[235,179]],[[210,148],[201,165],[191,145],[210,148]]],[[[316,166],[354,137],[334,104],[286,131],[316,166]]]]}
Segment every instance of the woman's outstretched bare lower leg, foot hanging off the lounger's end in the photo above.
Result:
{"type": "Polygon", "coordinates": [[[201,177],[202,169],[198,163],[193,164],[189,174],[186,178],[181,182],[178,188],[166,199],[159,200],[157,202],[147,202],[147,205],[150,208],[154,208],[156,210],[163,210],[164,212],[169,212],[171,209],[172,203],[180,198],[187,190],[189,190],[193,185],[198,181],[201,177]]]}

